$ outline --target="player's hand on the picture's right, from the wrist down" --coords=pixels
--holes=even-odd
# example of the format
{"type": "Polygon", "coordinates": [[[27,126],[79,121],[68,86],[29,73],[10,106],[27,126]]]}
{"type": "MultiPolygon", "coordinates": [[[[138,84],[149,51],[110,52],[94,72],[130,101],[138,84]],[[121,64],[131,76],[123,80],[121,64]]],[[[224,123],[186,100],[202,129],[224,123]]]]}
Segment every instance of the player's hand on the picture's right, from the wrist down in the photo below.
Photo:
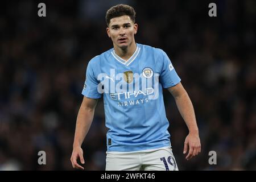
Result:
{"type": "Polygon", "coordinates": [[[184,150],[183,154],[186,154],[188,151],[188,155],[186,159],[189,160],[199,154],[201,152],[201,143],[199,134],[191,134],[189,133],[185,138],[184,142],[184,150]]]}

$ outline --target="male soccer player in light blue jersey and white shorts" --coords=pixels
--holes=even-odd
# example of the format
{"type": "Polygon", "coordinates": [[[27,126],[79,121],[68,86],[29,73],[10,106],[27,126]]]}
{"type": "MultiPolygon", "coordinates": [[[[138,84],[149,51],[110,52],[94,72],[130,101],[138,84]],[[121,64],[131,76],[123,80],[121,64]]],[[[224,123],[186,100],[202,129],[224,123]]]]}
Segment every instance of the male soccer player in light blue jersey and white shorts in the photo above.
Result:
{"type": "Polygon", "coordinates": [[[138,24],[128,5],[106,13],[106,32],[114,48],[89,61],[77,115],[71,162],[84,169],[81,144],[93,121],[97,99],[104,97],[106,117],[106,170],[178,170],[172,154],[163,88],[174,96],[189,134],[186,159],[201,150],[192,102],[167,54],[162,49],[135,43],[138,24]]]}

